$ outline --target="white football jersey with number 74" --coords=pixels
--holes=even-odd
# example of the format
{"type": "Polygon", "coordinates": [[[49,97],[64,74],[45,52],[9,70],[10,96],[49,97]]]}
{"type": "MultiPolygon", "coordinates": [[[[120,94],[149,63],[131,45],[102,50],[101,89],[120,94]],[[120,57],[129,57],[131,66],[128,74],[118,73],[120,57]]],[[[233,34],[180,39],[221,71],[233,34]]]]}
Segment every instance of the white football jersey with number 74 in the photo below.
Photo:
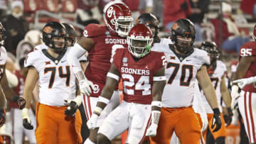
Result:
{"type": "Polygon", "coordinates": [[[64,106],[64,99],[75,98],[75,74],[64,55],[51,57],[46,49],[29,52],[24,66],[35,67],[38,74],[38,102],[49,106],[64,106]]]}

